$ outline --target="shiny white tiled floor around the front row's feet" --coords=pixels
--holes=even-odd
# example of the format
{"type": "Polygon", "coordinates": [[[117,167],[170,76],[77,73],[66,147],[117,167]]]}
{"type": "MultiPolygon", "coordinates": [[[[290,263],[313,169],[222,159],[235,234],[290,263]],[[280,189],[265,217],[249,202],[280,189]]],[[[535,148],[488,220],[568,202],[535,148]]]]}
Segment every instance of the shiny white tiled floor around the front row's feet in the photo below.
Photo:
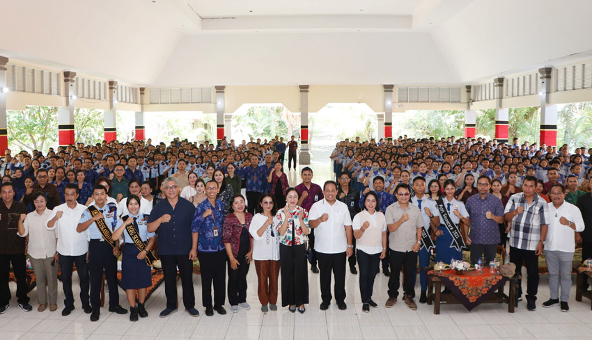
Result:
{"type": "MultiPolygon", "coordinates": [[[[328,170],[314,168],[316,182],[327,179],[328,170]]],[[[290,184],[296,175],[290,174],[290,184]]],[[[590,301],[575,302],[574,289],[570,298],[570,312],[562,313],[559,307],[545,309],[541,303],[549,298],[547,277],[540,280],[538,310],[527,311],[525,302],[514,314],[508,314],[507,305],[481,305],[467,311],[462,305],[443,305],[441,314],[434,315],[433,307],[419,305],[410,311],[402,302],[385,309],[387,300],[387,277],[380,274],[374,286],[377,309],[364,314],[359,303],[359,285],[356,275],[347,274],[346,311],[339,311],[332,304],[327,311],[320,311],[318,275],[309,273],[310,305],[304,314],[291,314],[280,308],[269,314],[261,314],[257,298],[257,280],[254,268],[249,270],[247,300],[250,310],[241,309],[237,314],[212,317],[203,314],[201,307],[201,278],[194,276],[196,307],[201,313],[192,318],[179,310],[169,318],[159,318],[164,308],[164,285],[160,286],[146,303],[150,316],[136,323],[128,315],[111,314],[102,309],[100,321],[91,323],[88,314],[80,308],[77,300],[75,311],[68,317],[61,316],[63,293],[59,286],[59,310],[42,313],[36,311],[36,291],[31,292],[33,311],[24,312],[16,306],[15,299],[5,314],[0,315],[0,340],[151,340],[151,339],[592,339],[592,311],[590,301]]],[[[77,277],[74,275],[75,296],[77,277]]],[[[13,296],[15,285],[11,284],[13,296]]],[[[419,295],[419,287],[416,288],[419,295]]],[[[181,296],[180,284],[178,284],[181,296]]],[[[280,293],[281,294],[281,293],[280,293]]],[[[127,306],[125,294],[120,291],[120,302],[127,306]]],[[[281,296],[280,296],[281,300],[281,296]]],[[[180,298],[180,305],[182,300],[180,298]]],[[[227,310],[230,309],[226,305],[227,310]]]]}

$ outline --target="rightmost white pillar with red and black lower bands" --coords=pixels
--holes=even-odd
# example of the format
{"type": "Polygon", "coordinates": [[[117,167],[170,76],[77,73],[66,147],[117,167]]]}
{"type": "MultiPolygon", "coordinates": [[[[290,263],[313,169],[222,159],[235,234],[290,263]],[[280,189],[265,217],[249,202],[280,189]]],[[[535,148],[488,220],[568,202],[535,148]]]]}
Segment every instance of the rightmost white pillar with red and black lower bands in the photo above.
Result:
{"type": "Polygon", "coordinates": [[[549,104],[551,92],[552,67],[543,67],[540,73],[540,143],[547,146],[557,146],[557,105],[549,104]]]}

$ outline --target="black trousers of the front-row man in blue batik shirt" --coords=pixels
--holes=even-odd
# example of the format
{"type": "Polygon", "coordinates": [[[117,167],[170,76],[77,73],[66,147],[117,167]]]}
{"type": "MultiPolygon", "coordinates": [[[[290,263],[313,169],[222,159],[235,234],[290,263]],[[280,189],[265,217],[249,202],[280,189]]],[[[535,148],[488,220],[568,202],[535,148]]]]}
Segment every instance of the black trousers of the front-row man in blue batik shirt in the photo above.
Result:
{"type": "Polygon", "coordinates": [[[222,306],[226,301],[226,251],[198,252],[201,271],[201,300],[203,307],[212,307],[212,282],[214,284],[214,305],[222,306]]]}

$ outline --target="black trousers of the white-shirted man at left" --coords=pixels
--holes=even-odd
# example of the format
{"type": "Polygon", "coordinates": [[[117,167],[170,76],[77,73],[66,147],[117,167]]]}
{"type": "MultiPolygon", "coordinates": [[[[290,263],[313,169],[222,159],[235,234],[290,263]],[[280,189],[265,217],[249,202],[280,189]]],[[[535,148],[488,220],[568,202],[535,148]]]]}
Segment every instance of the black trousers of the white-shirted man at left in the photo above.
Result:
{"type": "Polygon", "coordinates": [[[82,306],[90,305],[88,300],[88,289],[91,286],[88,277],[88,266],[86,265],[86,253],[78,256],[68,256],[59,254],[61,281],[64,295],[64,307],[74,305],[74,294],[72,293],[72,268],[76,264],[76,272],[80,281],[80,302],[82,306]]]}

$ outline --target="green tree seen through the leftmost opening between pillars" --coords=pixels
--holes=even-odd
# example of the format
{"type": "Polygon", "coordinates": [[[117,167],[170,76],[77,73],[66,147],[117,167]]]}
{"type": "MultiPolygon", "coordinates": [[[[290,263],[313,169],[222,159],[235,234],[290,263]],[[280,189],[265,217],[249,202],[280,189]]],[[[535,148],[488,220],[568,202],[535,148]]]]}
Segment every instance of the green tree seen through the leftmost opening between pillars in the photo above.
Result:
{"type": "Polygon", "coordinates": [[[47,152],[58,143],[58,109],[27,106],[24,111],[8,111],[8,147],[47,152]]]}

